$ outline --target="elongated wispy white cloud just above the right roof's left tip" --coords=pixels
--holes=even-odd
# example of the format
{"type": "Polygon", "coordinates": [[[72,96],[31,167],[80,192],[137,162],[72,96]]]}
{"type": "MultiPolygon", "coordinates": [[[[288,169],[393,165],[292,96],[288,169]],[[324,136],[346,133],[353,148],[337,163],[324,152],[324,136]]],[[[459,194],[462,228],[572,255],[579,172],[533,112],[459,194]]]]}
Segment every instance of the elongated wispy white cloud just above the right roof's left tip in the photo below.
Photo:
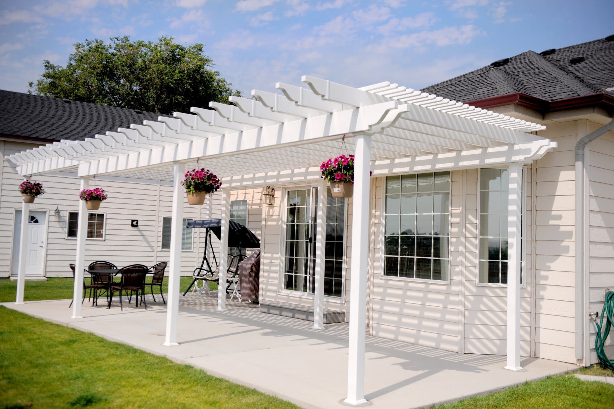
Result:
{"type": "Polygon", "coordinates": [[[451,45],[469,44],[475,36],[480,34],[480,29],[474,25],[444,27],[433,31],[421,31],[420,33],[405,34],[388,41],[394,48],[422,48],[426,45],[451,45]]]}

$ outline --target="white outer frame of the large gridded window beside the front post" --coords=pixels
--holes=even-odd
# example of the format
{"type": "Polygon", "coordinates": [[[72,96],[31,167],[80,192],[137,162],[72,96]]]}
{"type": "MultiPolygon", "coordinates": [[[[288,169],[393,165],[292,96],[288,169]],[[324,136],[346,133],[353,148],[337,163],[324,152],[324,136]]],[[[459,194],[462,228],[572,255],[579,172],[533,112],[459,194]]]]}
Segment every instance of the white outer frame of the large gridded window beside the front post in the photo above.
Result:
{"type": "MultiPolygon", "coordinates": [[[[404,176],[406,174],[423,174],[423,173],[435,173],[433,172],[411,172],[411,173],[403,173],[401,175],[392,174],[386,175],[382,177],[382,189],[381,189],[381,197],[379,197],[381,203],[381,209],[379,209],[379,278],[386,280],[397,280],[397,281],[412,281],[412,282],[427,282],[429,284],[441,284],[443,286],[449,286],[452,282],[452,171],[450,173],[450,212],[448,217],[448,279],[447,280],[433,280],[433,279],[425,279],[425,278],[411,278],[411,277],[395,277],[395,276],[387,276],[384,273],[386,272],[386,177],[388,176],[404,176]]],[[[433,258],[431,257],[431,260],[433,258]]]]}

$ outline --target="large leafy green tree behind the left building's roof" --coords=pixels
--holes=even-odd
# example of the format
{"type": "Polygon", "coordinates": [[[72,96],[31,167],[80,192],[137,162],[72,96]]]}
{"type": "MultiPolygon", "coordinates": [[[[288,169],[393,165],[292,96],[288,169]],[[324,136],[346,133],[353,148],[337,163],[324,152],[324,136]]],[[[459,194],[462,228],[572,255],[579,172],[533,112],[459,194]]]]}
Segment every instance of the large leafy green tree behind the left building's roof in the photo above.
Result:
{"type": "Polygon", "coordinates": [[[181,45],[173,37],[158,42],[112,37],[111,42],[85,40],[75,44],[66,68],[45,61],[41,78],[29,83],[29,93],[68,98],[142,111],[170,114],[227,103],[241,96],[230,82],[212,70],[203,44],[181,45]]]}

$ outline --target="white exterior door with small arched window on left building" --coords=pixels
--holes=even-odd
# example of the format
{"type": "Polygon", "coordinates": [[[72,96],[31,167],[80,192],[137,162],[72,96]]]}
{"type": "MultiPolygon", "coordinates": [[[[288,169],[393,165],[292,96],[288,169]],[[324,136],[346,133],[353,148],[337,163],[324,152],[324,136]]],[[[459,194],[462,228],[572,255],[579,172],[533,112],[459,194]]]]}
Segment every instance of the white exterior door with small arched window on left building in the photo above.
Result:
{"type": "MultiPolygon", "coordinates": [[[[45,254],[45,232],[47,212],[30,211],[28,222],[28,240],[26,241],[26,276],[42,276],[42,263],[45,254]]],[[[21,210],[15,212],[15,230],[13,232],[13,257],[10,266],[11,275],[17,275],[19,268],[19,245],[21,239],[21,210]]]]}

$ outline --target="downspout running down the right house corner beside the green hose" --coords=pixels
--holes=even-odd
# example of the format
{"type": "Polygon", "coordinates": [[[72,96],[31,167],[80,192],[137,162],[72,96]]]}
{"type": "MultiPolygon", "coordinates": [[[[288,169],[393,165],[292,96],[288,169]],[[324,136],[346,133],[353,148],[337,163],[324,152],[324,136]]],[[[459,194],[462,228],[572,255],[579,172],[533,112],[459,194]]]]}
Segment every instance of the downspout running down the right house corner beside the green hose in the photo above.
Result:
{"type": "Polygon", "coordinates": [[[582,359],[584,345],[584,154],[588,142],[614,129],[614,119],[580,139],[575,147],[575,353],[582,359]]]}

